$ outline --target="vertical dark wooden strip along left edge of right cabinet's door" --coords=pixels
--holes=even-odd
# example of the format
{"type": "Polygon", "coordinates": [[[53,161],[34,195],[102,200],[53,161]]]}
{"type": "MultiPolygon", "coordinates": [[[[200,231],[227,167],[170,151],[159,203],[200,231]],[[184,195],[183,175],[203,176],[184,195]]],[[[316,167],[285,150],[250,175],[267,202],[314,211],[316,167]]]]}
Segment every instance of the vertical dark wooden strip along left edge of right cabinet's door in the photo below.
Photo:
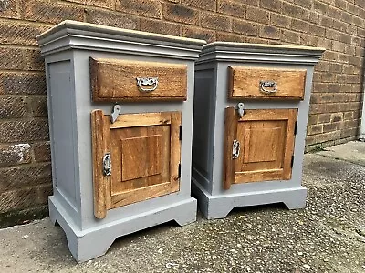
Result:
{"type": "Polygon", "coordinates": [[[235,183],[235,167],[232,158],[232,147],[237,134],[238,115],[235,107],[225,108],[224,122],[224,177],[223,187],[229,189],[235,183]]]}

